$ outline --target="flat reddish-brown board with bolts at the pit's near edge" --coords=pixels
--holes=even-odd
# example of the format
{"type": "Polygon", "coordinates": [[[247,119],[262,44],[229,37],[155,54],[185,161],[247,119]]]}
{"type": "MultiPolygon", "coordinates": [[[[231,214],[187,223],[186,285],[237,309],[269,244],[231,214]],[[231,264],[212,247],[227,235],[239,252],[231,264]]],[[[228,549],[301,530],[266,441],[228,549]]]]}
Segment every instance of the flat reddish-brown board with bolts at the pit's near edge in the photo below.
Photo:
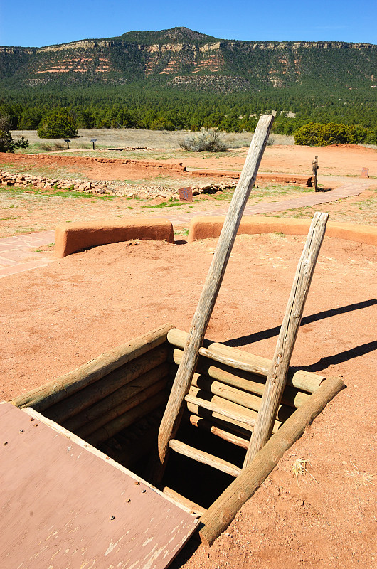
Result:
{"type": "Polygon", "coordinates": [[[133,473],[0,404],[0,558],[14,569],[162,569],[198,520],[133,473]]]}

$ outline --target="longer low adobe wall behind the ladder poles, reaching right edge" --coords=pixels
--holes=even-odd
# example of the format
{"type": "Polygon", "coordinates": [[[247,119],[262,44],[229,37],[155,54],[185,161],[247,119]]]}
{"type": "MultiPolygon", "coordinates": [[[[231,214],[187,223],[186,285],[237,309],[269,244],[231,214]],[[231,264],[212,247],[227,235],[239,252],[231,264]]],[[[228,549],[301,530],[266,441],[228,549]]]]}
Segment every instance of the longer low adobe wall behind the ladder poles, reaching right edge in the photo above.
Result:
{"type": "MultiPolygon", "coordinates": [[[[188,242],[209,237],[218,237],[223,228],[225,217],[195,217],[191,219],[188,230],[188,242]]],[[[287,235],[307,235],[311,219],[261,218],[245,216],[242,218],[238,234],[282,232],[287,235]]],[[[377,245],[377,227],[374,225],[356,225],[329,221],[326,225],[326,237],[338,237],[359,243],[377,245]]]]}

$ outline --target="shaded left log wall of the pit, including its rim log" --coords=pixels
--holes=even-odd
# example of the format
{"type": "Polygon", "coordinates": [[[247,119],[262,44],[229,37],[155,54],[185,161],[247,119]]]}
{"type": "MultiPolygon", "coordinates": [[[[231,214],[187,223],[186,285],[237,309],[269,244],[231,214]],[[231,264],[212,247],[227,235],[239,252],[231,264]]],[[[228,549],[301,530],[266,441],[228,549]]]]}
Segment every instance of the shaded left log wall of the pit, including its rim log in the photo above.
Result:
{"type": "Polygon", "coordinates": [[[42,409],[76,435],[105,442],[166,403],[169,329],[139,336],[12,403],[42,409]]]}

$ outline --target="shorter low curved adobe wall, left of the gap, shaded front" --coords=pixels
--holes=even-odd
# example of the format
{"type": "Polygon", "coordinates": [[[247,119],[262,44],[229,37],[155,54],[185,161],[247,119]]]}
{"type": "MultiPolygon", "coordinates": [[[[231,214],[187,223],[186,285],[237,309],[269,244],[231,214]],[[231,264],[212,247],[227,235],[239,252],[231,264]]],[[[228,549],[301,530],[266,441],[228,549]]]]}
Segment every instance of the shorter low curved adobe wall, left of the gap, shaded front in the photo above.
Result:
{"type": "Polygon", "coordinates": [[[55,229],[55,257],[60,259],[95,245],[107,245],[131,239],[174,243],[173,225],[167,220],[92,221],[61,223],[55,229]]]}

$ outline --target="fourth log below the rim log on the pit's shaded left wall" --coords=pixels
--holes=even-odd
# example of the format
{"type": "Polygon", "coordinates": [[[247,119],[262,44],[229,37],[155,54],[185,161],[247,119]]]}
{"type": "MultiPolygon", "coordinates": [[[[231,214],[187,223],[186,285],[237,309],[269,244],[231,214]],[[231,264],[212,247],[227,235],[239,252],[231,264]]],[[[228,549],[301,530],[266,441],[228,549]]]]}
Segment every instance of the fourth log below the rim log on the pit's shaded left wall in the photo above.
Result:
{"type": "Polygon", "coordinates": [[[154,395],[154,397],[150,397],[144,401],[144,403],[140,403],[140,405],[137,405],[127,411],[124,415],[120,415],[120,417],[113,419],[95,432],[92,432],[92,434],[87,437],[87,441],[90,445],[99,445],[100,442],[104,442],[105,440],[110,439],[110,437],[114,437],[114,435],[117,435],[117,432],[120,432],[122,429],[132,425],[132,423],[144,417],[144,415],[147,415],[160,405],[166,403],[167,398],[168,393],[166,393],[166,390],[160,391],[154,395]]]}

